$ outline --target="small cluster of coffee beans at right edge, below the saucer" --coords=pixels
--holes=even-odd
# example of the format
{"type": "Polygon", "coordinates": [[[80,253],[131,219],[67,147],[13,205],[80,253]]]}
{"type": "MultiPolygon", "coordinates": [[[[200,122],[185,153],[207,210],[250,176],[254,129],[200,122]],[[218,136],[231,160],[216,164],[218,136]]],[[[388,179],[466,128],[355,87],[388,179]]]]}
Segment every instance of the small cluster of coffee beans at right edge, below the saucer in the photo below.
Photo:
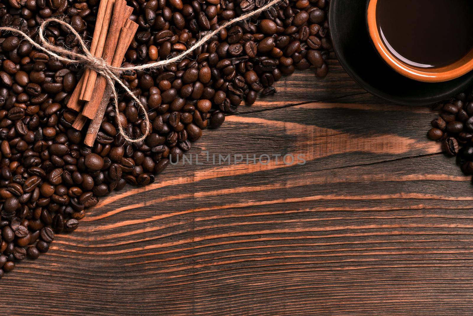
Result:
{"type": "Polygon", "coordinates": [[[444,152],[456,156],[456,163],[466,175],[473,175],[473,90],[436,104],[439,116],[427,136],[442,142],[444,152]]]}

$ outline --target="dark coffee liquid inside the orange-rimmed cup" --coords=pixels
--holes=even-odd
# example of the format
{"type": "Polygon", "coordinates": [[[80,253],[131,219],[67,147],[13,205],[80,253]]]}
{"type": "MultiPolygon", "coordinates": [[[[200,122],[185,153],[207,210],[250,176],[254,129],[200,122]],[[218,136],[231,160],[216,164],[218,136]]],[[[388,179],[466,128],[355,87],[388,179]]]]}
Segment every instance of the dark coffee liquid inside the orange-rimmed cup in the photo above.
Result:
{"type": "Polygon", "coordinates": [[[447,66],[473,48],[473,0],[378,0],[376,18],[386,47],[412,66],[447,66]]]}

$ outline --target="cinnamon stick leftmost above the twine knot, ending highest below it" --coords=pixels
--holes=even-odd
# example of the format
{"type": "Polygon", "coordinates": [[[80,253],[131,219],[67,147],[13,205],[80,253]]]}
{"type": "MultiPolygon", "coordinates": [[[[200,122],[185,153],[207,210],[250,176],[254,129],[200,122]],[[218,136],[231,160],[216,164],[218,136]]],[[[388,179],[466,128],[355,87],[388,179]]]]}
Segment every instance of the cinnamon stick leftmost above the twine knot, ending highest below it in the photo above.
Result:
{"type": "MultiPolygon", "coordinates": [[[[102,1],[107,1],[107,0],[102,0],[102,1]]],[[[91,46],[90,52],[95,57],[102,57],[102,54],[104,53],[105,40],[108,35],[108,27],[110,26],[110,22],[112,19],[112,14],[114,11],[114,4],[115,4],[115,0],[108,0],[105,12],[103,13],[104,17],[103,17],[102,25],[100,27],[99,32],[97,32],[98,33],[97,35],[96,35],[96,30],[94,30],[94,38],[92,40],[92,46],[91,46]],[[96,41],[95,47],[94,47],[94,40],[96,41]],[[92,52],[92,49],[94,50],[93,52],[92,52]]],[[[100,5],[102,5],[102,3],[100,3],[100,5]]],[[[80,100],[82,101],[90,100],[90,98],[92,97],[92,89],[90,89],[89,87],[94,87],[96,78],[97,78],[97,72],[91,69],[86,70],[86,79],[84,80],[84,85],[82,86],[82,89],[81,89],[81,94],[79,96],[80,100]]]]}

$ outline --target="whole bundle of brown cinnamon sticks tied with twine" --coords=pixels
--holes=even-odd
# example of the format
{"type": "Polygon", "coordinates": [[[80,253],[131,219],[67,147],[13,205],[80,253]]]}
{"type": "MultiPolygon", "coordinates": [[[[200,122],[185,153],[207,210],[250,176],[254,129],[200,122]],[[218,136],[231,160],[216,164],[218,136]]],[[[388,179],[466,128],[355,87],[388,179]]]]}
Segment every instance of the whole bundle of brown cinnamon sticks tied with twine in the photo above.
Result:
{"type": "MultiPolygon", "coordinates": [[[[133,8],[126,0],[101,0],[90,53],[102,57],[106,63],[120,67],[128,47],[135,36],[138,24],[130,20],[133,8]]],[[[73,91],[67,107],[79,112],[72,126],[81,130],[88,119],[89,124],[84,143],[92,146],[102,124],[108,102],[110,87],[106,79],[97,72],[86,69],[73,91]]]]}

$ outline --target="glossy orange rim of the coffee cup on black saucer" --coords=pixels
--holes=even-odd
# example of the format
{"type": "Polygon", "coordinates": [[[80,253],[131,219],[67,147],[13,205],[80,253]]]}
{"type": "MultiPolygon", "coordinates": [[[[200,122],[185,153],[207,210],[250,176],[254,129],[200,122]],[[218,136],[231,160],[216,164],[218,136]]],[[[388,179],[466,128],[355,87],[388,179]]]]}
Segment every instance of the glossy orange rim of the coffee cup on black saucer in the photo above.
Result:
{"type": "Polygon", "coordinates": [[[461,77],[473,70],[473,49],[461,60],[439,68],[419,68],[403,63],[385,46],[376,21],[377,0],[369,0],[367,10],[368,33],[378,54],[391,68],[403,76],[423,82],[443,82],[461,77]]]}

